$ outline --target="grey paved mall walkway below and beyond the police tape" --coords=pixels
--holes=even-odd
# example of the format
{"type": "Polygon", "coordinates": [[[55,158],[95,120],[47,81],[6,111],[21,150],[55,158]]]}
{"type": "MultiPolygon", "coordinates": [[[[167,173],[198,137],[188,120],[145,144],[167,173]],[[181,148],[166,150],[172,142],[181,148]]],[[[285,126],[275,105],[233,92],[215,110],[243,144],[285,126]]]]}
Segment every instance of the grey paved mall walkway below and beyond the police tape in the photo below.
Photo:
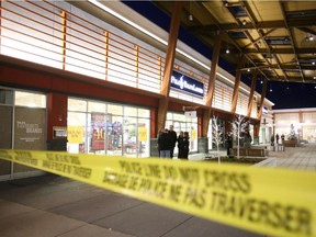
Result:
{"type": "MultiPolygon", "coordinates": [[[[316,145],[270,151],[263,166],[316,169],[316,145]]],[[[66,178],[0,182],[1,237],[259,237],[66,178]]]]}

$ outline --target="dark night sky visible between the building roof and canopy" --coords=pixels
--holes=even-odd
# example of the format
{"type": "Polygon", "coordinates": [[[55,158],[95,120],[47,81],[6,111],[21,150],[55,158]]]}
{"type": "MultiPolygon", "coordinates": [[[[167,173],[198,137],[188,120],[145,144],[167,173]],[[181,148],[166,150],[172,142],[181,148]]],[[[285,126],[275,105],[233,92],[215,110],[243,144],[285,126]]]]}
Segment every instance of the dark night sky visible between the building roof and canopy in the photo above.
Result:
{"type": "MultiPolygon", "coordinates": [[[[169,31],[170,18],[150,1],[123,1],[126,5],[137,11],[155,24],[169,31]]],[[[180,29],[179,38],[193,47],[196,52],[204,55],[206,58],[212,58],[212,49],[200,42],[193,35],[190,35],[183,27],[180,29]]],[[[236,68],[233,68],[222,58],[219,66],[235,76],[236,68]]],[[[251,76],[244,75],[241,81],[250,86],[251,76]]],[[[261,93],[260,76],[257,80],[256,91],[261,93]]],[[[297,83],[297,82],[276,82],[269,81],[266,93],[268,98],[275,105],[273,109],[300,109],[300,108],[316,108],[316,83],[297,83]],[[272,91],[271,91],[272,90],[272,91]]]]}

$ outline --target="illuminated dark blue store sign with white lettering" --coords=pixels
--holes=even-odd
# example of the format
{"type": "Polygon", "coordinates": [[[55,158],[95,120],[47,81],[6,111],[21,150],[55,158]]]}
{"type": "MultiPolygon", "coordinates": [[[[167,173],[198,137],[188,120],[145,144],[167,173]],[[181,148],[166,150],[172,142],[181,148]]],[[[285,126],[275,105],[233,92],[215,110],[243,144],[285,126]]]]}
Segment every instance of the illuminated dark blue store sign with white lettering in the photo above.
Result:
{"type": "Polygon", "coordinates": [[[172,71],[170,87],[196,94],[199,97],[204,97],[204,83],[174,70],[172,71]]]}

